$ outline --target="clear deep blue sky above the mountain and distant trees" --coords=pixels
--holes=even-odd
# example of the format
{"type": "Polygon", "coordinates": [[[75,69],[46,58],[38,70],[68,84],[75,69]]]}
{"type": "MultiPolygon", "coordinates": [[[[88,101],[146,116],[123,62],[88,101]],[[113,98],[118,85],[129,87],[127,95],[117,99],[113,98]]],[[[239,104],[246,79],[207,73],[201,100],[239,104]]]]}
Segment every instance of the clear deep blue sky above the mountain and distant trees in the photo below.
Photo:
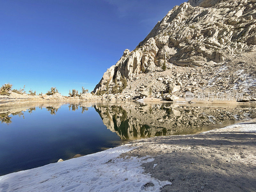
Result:
{"type": "Polygon", "coordinates": [[[184,0],[0,0],[0,84],[90,91],[184,0]]]}

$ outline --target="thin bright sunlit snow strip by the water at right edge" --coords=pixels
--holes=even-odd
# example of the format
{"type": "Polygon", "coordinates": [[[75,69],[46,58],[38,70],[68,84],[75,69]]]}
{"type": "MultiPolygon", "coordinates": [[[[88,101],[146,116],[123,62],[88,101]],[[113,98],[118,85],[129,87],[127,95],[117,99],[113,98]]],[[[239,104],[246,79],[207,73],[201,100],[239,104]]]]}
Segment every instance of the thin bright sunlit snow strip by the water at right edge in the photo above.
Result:
{"type": "Polygon", "coordinates": [[[256,133],[256,122],[241,122],[229,125],[217,130],[211,130],[203,133],[222,132],[222,131],[238,131],[238,132],[254,132],[256,133]]]}

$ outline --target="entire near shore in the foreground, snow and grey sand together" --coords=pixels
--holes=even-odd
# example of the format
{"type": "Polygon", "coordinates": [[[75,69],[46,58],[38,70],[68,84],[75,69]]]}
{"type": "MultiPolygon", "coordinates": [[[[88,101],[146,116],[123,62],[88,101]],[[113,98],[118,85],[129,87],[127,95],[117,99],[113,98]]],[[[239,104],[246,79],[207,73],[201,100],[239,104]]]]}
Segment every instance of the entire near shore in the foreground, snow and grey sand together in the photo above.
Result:
{"type": "Polygon", "coordinates": [[[0,177],[0,189],[255,191],[255,167],[254,119],[201,134],[135,140],[96,154],[11,173],[0,177]]]}

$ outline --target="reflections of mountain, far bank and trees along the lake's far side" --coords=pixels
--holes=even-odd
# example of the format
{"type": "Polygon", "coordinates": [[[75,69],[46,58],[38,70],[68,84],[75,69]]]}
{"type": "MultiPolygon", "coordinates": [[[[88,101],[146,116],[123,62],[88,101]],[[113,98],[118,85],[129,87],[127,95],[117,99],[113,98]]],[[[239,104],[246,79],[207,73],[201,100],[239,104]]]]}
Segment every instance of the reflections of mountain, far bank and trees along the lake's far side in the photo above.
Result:
{"type": "MultiPolygon", "coordinates": [[[[31,105],[31,104],[30,104],[31,105]]],[[[0,107],[1,123],[11,124],[12,116],[24,117],[23,111],[32,114],[36,109],[46,110],[56,115],[63,103],[43,103],[26,107],[0,107]],[[12,116],[11,116],[12,115],[12,116]]],[[[252,107],[200,107],[176,104],[137,103],[68,103],[69,111],[80,110],[81,113],[94,108],[106,127],[115,132],[121,139],[140,139],[152,136],[165,136],[188,133],[189,130],[212,124],[224,123],[240,119],[256,118],[256,110],[252,107]]]]}

